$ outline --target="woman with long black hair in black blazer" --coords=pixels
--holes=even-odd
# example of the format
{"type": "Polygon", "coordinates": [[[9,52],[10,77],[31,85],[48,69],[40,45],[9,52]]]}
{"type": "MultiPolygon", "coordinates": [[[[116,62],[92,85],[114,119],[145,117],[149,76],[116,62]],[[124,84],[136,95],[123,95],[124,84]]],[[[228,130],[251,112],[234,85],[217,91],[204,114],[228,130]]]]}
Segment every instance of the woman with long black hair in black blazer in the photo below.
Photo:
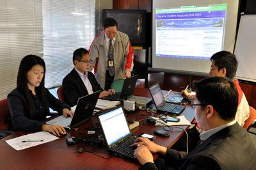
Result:
{"type": "Polygon", "coordinates": [[[49,115],[49,107],[63,116],[73,115],[67,104],[61,103],[44,87],[44,79],[42,58],[28,55],[20,61],[17,88],[8,95],[10,130],[43,130],[58,136],[65,133],[61,125],[47,125],[42,121],[49,115]]]}

